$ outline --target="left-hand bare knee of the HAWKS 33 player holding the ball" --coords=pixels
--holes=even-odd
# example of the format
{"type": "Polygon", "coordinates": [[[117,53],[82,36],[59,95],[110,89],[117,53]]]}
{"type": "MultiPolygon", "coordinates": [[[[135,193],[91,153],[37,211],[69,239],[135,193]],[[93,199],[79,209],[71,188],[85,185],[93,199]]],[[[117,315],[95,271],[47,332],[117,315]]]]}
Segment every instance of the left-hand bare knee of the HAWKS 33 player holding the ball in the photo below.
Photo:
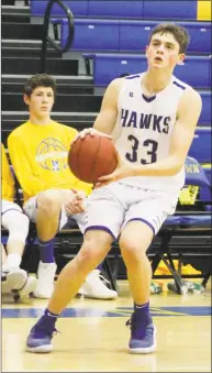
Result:
{"type": "Polygon", "coordinates": [[[87,231],[82,248],[78,254],[81,262],[91,266],[98,265],[108,254],[112,243],[112,237],[103,231],[87,231]]]}

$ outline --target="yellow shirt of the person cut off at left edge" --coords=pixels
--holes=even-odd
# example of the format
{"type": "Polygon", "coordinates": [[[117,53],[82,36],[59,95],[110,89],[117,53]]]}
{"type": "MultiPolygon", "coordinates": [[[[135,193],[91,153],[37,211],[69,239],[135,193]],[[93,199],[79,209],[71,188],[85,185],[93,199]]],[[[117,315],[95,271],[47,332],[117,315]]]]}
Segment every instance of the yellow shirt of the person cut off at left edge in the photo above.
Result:
{"type": "Polygon", "coordinates": [[[7,160],[5,149],[1,144],[1,198],[13,201],[14,199],[14,178],[7,160]]]}

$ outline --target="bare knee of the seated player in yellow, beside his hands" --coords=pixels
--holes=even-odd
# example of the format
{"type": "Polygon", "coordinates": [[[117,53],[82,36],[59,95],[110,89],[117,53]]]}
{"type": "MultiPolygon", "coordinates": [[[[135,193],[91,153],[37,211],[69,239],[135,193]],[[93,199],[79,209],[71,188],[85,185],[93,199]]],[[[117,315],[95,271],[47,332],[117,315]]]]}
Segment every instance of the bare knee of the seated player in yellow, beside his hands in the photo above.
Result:
{"type": "Polygon", "coordinates": [[[37,209],[40,212],[53,217],[62,208],[62,197],[58,190],[45,190],[37,197],[37,209]]]}

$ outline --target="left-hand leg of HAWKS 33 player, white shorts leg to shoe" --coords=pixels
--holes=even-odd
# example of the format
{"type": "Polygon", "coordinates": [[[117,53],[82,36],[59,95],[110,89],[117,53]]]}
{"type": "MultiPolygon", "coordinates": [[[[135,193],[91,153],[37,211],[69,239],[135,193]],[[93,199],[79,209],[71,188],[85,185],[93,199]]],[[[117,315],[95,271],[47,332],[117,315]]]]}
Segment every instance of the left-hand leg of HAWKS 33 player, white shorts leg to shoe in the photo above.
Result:
{"type": "Polygon", "coordinates": [[[105,257],[111,242],[120,232],[124,216],[122,206],[118,200],[107,199],[104,194],[102,199],[101,191],[93,195],[89,198],[87,207],[83,244],[75,259],[60,272],[44,316],[30,332],[26,341],[27,351],[52,350],[51,340],[57,317],[77,294],[86,276],[105,257]]]}

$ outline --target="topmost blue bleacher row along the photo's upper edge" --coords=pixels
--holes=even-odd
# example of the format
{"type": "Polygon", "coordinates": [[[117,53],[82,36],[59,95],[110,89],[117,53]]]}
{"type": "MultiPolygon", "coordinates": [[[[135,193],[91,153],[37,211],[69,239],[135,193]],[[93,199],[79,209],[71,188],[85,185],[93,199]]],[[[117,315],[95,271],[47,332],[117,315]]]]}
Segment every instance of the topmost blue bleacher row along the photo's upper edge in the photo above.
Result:
{"type": "MultiPolygon", "coordinates": [[[[38,0],[31,0],[31,15],[43,15],[47,0],[41,3],[38,0]]],[[[67,0],[65,3],[70,8],[75,17],[103,17],[116,19],[159,19],[159,20],[192,20],[201,18],[197,0],[183,1],[180,7],[177,0],[167,2],[160,1],[114,1],[114,0],[67,0]]],[[[203,11],[201,11],[203,12],[203,11]]],[[[64,11],[54,4],[53,15],[64,17],[64,11]]]]}

